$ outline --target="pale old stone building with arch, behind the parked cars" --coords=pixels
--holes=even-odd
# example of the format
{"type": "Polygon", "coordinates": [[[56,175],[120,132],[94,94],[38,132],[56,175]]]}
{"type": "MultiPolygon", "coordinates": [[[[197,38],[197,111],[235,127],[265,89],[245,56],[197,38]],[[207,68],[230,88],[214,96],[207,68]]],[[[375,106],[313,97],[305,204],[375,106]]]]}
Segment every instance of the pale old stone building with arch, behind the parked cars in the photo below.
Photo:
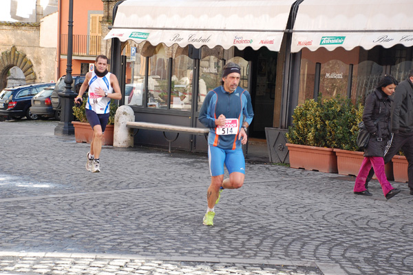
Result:
{"type": "Polygon", "coordinates": [[[56,1],[3,1],[0,11],[0,90],[56,81],[56,1]]]}

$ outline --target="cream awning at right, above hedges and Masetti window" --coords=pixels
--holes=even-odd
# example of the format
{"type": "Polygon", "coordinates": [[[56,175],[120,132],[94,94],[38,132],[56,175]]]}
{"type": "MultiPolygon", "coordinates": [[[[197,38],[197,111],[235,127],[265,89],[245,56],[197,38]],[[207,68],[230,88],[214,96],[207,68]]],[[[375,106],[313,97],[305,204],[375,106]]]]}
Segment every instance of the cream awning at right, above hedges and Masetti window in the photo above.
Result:
{"type": "Polygon", "coordinates": [[[292,52],[413,45],[412,0],[304,0],[293,28],[292,52]]]}

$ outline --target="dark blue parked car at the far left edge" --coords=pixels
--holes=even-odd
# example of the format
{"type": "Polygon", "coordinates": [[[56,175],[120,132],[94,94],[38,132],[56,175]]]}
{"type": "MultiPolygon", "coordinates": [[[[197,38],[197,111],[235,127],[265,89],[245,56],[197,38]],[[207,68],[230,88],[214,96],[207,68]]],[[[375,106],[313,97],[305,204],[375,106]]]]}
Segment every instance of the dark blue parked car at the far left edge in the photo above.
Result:
{"type": "Polygon", "coordinates": [[[0,116],[6,116],[8,119],[21,119],[23,116],[28,120],[38,119],[36,114],[30,112],[32,97],[50,86],[54,86],[54,83],[34,83],[5,88],[0,96],[0,116]]]}

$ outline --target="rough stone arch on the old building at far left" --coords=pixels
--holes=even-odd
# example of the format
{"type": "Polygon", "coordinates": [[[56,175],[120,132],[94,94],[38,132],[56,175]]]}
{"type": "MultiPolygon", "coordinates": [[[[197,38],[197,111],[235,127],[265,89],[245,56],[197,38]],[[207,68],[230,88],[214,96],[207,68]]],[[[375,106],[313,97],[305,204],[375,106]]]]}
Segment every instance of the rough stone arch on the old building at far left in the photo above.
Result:
{"type": "Polygon", "coordinates": [[[36,80],[36,73],[33,70],[33,63],[26,57],[24,52],[19,52],[16,46],[12,46],[10,50],[1,52],[0,55],[0,89],[5,88],[6,74],[10,68],[17,66],[24,74],[26,83],[33,83],[36,80]]]}

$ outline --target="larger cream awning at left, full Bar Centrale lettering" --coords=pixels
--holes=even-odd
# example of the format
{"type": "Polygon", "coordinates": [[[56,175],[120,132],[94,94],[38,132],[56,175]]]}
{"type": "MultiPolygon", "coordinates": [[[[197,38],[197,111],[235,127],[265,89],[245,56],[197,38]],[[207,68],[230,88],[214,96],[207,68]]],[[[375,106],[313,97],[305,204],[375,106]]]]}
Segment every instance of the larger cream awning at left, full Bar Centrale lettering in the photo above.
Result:
{"type": "Polygon", "coordinates": [[[127,0],[105,39],[278,52],[295,0],[127,0]]]}

